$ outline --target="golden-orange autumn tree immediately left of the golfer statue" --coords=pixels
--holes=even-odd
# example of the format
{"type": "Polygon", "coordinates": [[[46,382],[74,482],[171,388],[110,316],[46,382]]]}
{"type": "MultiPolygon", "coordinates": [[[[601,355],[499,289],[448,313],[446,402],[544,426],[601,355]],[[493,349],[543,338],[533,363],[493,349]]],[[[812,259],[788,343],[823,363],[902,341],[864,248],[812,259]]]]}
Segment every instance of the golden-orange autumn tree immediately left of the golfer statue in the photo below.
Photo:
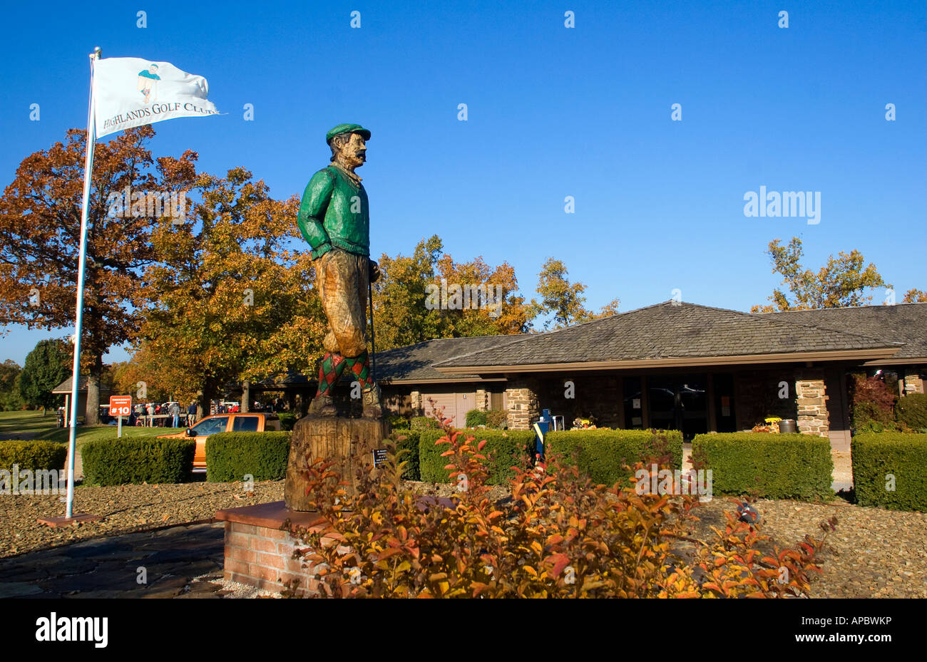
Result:
{"type": "MultiPolygon", "coordinates": [[[[287,368],[308,370],[322,347],[324,318],[298,238],[298,201],[273,200],[243,168],[225,178],[201,174],[191,223],[161,222],[146,269],[141,371],[202,411],[229,384],[287,368]],[[313,298],[314,297],[314,298],[313,298]]],[[[146,379],[146,377],[148,379],[146,379]]]]}

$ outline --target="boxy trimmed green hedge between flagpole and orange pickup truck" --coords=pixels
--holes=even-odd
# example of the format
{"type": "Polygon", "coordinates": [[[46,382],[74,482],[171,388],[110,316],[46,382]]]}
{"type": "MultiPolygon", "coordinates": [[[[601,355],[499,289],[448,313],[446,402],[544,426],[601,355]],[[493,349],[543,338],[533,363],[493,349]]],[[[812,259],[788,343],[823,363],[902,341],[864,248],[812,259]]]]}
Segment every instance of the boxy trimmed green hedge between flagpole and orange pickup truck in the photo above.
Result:
{"type": "Polygon", "coordinates": [[[84,482],[91,485],[183,482],[193,471],[193,439],[96,439],[83,443],[84,482]]]}

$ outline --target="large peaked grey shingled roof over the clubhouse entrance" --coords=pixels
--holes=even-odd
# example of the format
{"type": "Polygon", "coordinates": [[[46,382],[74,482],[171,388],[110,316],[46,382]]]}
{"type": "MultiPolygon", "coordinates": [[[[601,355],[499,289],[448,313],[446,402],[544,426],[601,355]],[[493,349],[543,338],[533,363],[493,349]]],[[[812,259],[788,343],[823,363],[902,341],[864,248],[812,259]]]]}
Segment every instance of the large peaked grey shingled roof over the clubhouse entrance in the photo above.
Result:
{"type": "MultiPolygon", "coordinates": [[[[879,358],[894,354],[900,343],[859,333],[795,323],[771,315],[667,301],[559,331],[518,336],[435,364],[445,375],[464,368],[487,373],[492,368],[620,367],[616,364],[665,365],[712,363],[720,357],[744,362],[805,358],[879,358]],[[590,366],[591,367],[591,366],[590,366]]],[[[436,356],[436,358],[438,358],[436,356]]]]}

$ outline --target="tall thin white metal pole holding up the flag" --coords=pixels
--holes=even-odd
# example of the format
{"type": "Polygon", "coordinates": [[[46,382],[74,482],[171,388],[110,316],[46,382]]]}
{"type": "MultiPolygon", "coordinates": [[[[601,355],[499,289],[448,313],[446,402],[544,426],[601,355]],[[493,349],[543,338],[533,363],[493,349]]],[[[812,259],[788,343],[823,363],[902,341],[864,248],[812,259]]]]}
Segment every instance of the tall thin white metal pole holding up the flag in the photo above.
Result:
{"type": "MultiPolygon", "coordinates": [[[[70,378],[70,434],[68,435],[68,506],[65,517],[74,508],[74,452],[77,438],[77,395],[81,373],[81,332],[83,330],[83,267],[87,256],[87,216],[90,204],[90,180],[94,168],[96,120],[94,115],[94,62],[100,58],[97,46],[90,54],[90,108],[87,111],[87,157],[83,163],[83,206],[81,207],[81,256],[77,262],[77,319],[74,322],[74,367],[70,378]]],[[[89,387],[89,383],[88,383],[89,387]]],[[[89,389],[88,389],[89,395],[89,389]]]]}

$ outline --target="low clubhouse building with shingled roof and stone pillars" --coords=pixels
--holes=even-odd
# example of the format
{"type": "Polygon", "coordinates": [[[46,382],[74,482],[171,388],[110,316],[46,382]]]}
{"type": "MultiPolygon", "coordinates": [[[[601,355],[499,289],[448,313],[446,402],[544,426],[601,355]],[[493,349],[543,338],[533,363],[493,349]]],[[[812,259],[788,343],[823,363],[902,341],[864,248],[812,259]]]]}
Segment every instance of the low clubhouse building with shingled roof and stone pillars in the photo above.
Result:
{"type": "MultiPolygon", "coordinates": [[[[923,393],[927,304],[750,314],[668,301],[559,331],[446,338],[378,352],[387,409],[445,416],[502,409],[527,429],[550,409],[566,427],[662,428],[687,440],[794,418],[798,431],[848,450],[847,376],[895,373],[900,394],[923,393]]],[[[258,386],[258,385],[256,385],[258,386]]],[[[260,384],[298,408],[314,381],[260,384]]]]}

